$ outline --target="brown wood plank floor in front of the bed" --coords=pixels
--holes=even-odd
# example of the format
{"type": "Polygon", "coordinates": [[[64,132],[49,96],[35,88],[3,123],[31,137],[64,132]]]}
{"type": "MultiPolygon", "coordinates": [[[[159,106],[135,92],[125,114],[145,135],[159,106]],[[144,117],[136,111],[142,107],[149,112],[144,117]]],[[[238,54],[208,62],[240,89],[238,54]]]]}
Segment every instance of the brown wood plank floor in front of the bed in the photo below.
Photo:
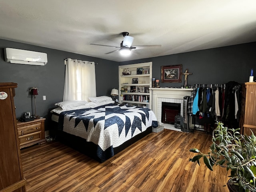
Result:
{"type": "Polygon", "coordinates": [[[60,142],[21,150],[27,192],[228,192],[226,170],[189,162],[190,148],[206,152],[211,136],[150,133],[104,163],[60,142]]]}

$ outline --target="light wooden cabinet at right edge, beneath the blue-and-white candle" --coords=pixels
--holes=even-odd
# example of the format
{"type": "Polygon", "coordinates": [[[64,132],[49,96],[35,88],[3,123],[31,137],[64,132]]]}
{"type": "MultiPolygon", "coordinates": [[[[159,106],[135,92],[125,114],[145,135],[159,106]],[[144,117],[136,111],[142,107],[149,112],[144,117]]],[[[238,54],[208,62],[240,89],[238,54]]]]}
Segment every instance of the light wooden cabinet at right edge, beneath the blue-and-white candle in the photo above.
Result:
{"type": "Polygon", "coordinates": [[[239,125],[241,133],[256,134],[256,82],[246,82],[242,85],[241,116],[239,125]]]}

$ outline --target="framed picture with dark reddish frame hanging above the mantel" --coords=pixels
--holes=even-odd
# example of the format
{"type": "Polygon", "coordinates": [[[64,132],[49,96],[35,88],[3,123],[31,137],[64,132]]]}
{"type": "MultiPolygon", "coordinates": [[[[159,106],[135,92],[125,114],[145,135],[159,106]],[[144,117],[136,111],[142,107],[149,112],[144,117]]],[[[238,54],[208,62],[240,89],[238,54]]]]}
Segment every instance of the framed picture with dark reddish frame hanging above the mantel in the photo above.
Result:
{"type": "Polygon", "coordinates": [[[182,65],[161,66],[162,83],[180,83],[182,65]]]}

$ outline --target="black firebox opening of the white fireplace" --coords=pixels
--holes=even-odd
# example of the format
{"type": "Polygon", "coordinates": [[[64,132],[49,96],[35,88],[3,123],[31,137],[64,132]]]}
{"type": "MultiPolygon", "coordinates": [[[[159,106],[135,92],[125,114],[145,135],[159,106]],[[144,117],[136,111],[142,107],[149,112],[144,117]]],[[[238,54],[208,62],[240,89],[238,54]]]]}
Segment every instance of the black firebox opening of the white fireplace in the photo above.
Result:
{"type": "Polygon", "coordinates": [[[162,102],[161,122],[166,124],[174,124],[175,116],[180,115],[180,103],[162,102]]]}

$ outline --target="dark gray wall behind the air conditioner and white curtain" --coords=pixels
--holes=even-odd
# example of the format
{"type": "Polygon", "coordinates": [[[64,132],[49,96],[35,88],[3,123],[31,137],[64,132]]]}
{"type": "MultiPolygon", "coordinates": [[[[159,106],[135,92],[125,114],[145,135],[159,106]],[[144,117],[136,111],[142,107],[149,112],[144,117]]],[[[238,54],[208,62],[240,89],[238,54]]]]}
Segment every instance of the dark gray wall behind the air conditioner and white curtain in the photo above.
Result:
{"type": "Polygon", "coordinates": [[[97,96],[110,96],[111,89],[118,87],[118,62],[0,39],[0,82],[18,83],[14,97],[17,118],[23,112],[32,113],[32,100],[28,90],[36,86],[39,89],[36,114],[47,118],[46,130],[49,130],[48,111],[54,108],[56,102],[63,100],[65,58],[98,63],[95,65],[97,96]],[[45,66],[6,63],[4,48],[47,53],[48,63],[45,66]],[[43,95],[46,100],[43,100],[43,95]]]}

